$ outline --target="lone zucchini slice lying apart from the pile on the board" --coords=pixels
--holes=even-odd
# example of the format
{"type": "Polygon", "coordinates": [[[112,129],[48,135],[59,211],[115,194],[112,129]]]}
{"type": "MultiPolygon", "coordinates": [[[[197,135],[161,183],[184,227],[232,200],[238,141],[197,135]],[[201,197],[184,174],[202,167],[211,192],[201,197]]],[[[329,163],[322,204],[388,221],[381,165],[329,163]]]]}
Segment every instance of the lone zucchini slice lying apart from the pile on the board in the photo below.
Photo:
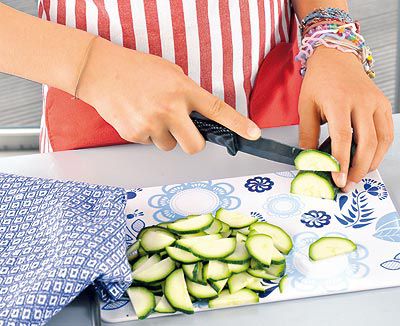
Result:
{"type": "Polygon", "coordinates": [[[321,260],[348,254],[357,249],[350,239],[341,237],[322,237],[310,245],[308,255],[312,260],[321,260]]]}

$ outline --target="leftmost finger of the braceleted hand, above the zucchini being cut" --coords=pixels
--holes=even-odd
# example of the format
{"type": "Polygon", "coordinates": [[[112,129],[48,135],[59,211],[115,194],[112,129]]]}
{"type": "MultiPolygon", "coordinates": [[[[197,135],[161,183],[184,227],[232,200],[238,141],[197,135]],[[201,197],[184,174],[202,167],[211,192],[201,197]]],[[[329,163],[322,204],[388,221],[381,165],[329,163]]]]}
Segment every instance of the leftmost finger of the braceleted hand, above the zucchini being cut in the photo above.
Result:
{"type": "Polygon", "coordinates": [[[321,116],[313,102],[299,103],[299,146],[304,149],[317,148],[321,129],[321,116]]]}

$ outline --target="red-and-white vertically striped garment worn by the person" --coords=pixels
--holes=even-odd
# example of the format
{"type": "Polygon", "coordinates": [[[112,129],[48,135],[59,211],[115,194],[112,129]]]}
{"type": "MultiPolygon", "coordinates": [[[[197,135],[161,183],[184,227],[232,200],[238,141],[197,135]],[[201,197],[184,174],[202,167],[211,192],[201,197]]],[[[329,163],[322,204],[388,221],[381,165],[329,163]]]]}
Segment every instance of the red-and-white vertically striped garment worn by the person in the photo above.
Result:
{"type": "MultiPolygon", "coordinates": [[[[290,16],[290,0],[39,0],[39,17],[162,56],[245,115],[262,59],[289,42],[290,16]]],[[[44,113],[41,129],[50,152],[44,113]]]]}

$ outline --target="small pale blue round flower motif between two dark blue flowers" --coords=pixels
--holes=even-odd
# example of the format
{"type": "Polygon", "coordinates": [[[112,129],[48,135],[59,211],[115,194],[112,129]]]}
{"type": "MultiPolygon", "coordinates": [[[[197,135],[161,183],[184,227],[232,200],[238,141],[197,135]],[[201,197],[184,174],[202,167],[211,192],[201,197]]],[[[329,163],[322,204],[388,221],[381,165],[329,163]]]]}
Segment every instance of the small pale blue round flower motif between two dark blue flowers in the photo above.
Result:
{"type": "Polygon", "coordinates": [[[301,199],[294,195],[271,196],[263,205],[268,216],[288,218],[299,215],[304,208],[301,199]]]}

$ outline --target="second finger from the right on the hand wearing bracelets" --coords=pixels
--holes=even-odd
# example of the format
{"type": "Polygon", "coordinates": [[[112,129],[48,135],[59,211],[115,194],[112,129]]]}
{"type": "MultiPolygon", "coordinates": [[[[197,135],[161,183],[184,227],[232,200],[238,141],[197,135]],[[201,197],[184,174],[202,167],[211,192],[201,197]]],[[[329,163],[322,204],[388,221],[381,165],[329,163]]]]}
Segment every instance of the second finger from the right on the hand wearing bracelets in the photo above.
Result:
{"type": "Polygon", "coordinates": [[[354,112],[353,128],[357,148],[349,171],[345,191],[350,191],[368,173],[378,145],[373,116],[365,112],[354,112]]]}

